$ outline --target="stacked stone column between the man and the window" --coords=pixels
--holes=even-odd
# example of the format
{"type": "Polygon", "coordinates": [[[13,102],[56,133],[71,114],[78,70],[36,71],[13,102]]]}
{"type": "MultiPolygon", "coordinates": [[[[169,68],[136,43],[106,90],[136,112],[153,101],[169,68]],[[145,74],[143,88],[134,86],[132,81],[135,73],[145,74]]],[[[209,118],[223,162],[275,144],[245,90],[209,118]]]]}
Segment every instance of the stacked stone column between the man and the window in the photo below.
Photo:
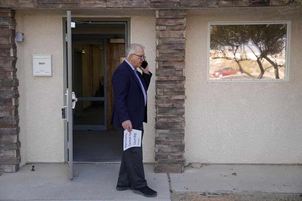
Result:
{"type": "Polygon", "coordinates": [[[185,10],[156,10],[155,172],[182,173],[185,127],[185,10]]]}

